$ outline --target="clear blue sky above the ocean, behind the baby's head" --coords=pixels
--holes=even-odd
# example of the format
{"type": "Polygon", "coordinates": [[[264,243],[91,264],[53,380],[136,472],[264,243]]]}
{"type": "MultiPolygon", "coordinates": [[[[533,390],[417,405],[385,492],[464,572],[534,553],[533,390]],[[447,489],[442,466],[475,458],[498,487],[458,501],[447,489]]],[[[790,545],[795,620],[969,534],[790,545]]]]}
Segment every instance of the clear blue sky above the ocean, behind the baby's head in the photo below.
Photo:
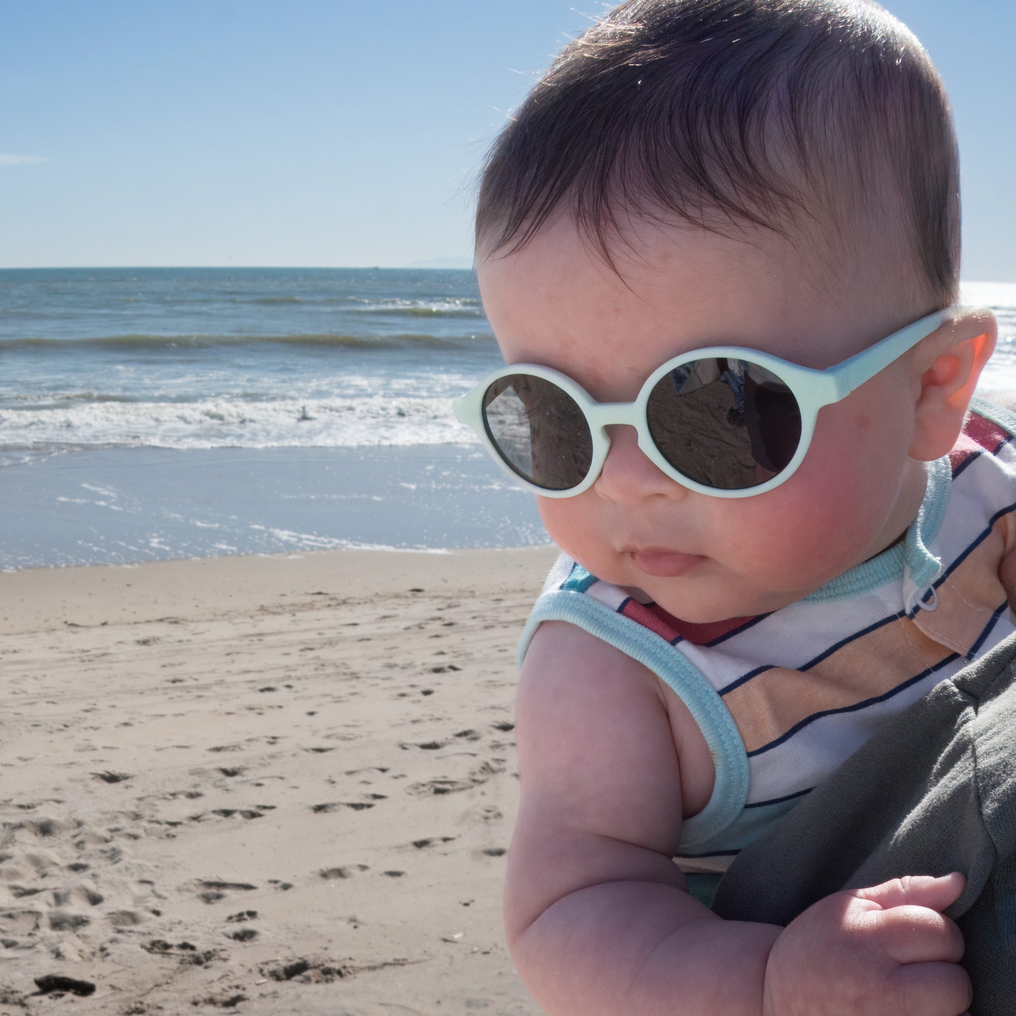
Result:
{"type": "MultiPolygon", "coordinates": [[[[952,97],[964,276],[1016,281],[1016,3],[888,6],[952,97]]],[[[602,8],[0,0],[0,266],[18,267],[466,256],[467,185],[486,146],[533,75],[602,8]]]]}

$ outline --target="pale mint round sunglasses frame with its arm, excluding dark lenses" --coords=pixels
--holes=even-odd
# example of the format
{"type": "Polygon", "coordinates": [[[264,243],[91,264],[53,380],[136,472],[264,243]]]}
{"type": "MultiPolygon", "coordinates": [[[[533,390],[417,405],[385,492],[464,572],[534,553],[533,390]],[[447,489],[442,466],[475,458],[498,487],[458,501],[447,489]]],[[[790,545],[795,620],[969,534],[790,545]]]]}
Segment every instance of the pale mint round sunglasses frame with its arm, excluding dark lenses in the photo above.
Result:
{"type": "Polygon", "coordinates": [[[642,453],[653,465],[671,480],[675,481],[675,483],[709,497],[749,498],[758,494],[765,494],[779,487],[780,484],[785,483],[793,475],[798,466],[804,461],[805,455],[808,454],[808,449],[812,443],[812,435],[815,433],[815,422],[818,419],[819,409],[824,405],[831,405],[846,398],[851,391],[860,388],[866,381],[870,381],[876,374],[885,370],[886,367],[898,360],[904,353],[913,348],[922,339],[927,338],[947,321],[952,320],[957,313],[958,308],[953,306],[942,311],[937,311],[934,314],[929,314],[927,317],[914,321],[905,328],[893,332],[893,334],[876,342],[874,345],[870,345],[867,350],[863,350],[855,356],[823,371],[802,367],[799,364],[791,364],[789,361],[780,360],[779,357],[773,357],[768,353],[760,353],[757,350],[748,350],[737,345],[712,345],[702,350],[691,350],[688,353],[682,353],[680,356],[674,357],[672,360],[668,360],[665,364],[653,371],[641,389],[639,389],[638,397],[634,402],[597,402],[580,384],[573,381],[567,374],[562,374],[560,371],[553,370],[550,367],[542,367],[538,364],[509,364],[494,371],[493,374],[488,375],[480,384],[471,388],[464,395],[460,395],[454,399],[452,407],[455,410],[456,419],[460,423],[471,427],[480,435],[487,450],[505,472],[541,497],[572,498],[592,487],[602,470],[607,453],[611,449],[611,439],[607,434],[607,428],[623,424],[635,428],[638,434],[638,446],[642,450],[642,453]],[[728,360],[744,360],[774,374],[792,392],[801,409],[801,438],[798,442],[798,449],[793,454],[793,458],[776,475],[755,487],[745,487],[737,490],[706,487],[704,484],[686,477],[671,465],[663,458],[649,434],[646,409],[649,396],[660,378],[690,361],[706,360],[713,357],[728,360]],[[589,464],[589,471],[582,482],[575,487],[569,487],[563,491],[554,491],[548,490],[545,487],[538,487],[513,468],[494,443],[484,418],[484,395],[495,381],[512,374],[528,374],[556,384],[575,400],[579,409],[584,415],[592,438],[592,459],[589,464]]]}

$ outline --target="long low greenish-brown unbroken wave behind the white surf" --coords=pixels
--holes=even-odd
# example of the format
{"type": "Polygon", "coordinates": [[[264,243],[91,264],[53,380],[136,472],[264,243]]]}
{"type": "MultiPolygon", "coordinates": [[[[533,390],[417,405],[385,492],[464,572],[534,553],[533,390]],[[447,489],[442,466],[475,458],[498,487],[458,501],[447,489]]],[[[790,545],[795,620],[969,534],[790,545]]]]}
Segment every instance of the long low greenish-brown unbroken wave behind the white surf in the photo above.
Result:
{"type": "Polygon", "coordinates": [[[310,332],[291,335],[165,335],[134,333],[126,335],[90,335],[81,338],[8,338],[0,339],[0,351],[30,348],[68,348],[90,346],[93,348],[213,348],[215,346],[243,345],[306,345],[344,346],[355,350],[400,350],[407,347],[455,348],[463,343],[494,341],[490,333],[443,337],[422,332],[398,335],[351,335],[342,332],[310,332]]]}

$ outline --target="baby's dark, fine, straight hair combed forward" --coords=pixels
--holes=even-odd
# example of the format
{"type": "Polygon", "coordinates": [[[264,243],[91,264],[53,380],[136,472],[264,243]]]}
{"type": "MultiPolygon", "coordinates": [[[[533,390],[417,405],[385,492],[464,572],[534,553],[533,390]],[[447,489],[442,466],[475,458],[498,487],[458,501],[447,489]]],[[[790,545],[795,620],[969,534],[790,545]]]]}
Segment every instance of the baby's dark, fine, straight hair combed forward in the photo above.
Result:
{"type": "MultiPolygon", "coordinates": [[[[624,214],[722,231],[866,217],[955,299],[959,160],[941,79],[869,0],[628,0],[568,45],[484,167],[478,243],[567,207],[608,261],[624,214]],[[887,221],[888,217],[888,221],[887,221]]],[[[911,267],[912,266],[912,267],[911,267]]],[[[929,292],[930,291],[930,292],[929,292]]]]}

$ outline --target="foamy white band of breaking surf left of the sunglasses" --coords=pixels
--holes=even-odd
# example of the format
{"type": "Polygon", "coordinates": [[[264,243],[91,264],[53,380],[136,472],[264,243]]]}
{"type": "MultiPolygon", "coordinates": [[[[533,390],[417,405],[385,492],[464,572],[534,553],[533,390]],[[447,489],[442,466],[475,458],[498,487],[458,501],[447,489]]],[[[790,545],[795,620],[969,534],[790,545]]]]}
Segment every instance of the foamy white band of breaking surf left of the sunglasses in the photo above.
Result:
{"type": "Polygon", "coordinates": [[[450,398],[83,402],[0,410],[0,449],[357,448],[474,444],[450,398]]]}

